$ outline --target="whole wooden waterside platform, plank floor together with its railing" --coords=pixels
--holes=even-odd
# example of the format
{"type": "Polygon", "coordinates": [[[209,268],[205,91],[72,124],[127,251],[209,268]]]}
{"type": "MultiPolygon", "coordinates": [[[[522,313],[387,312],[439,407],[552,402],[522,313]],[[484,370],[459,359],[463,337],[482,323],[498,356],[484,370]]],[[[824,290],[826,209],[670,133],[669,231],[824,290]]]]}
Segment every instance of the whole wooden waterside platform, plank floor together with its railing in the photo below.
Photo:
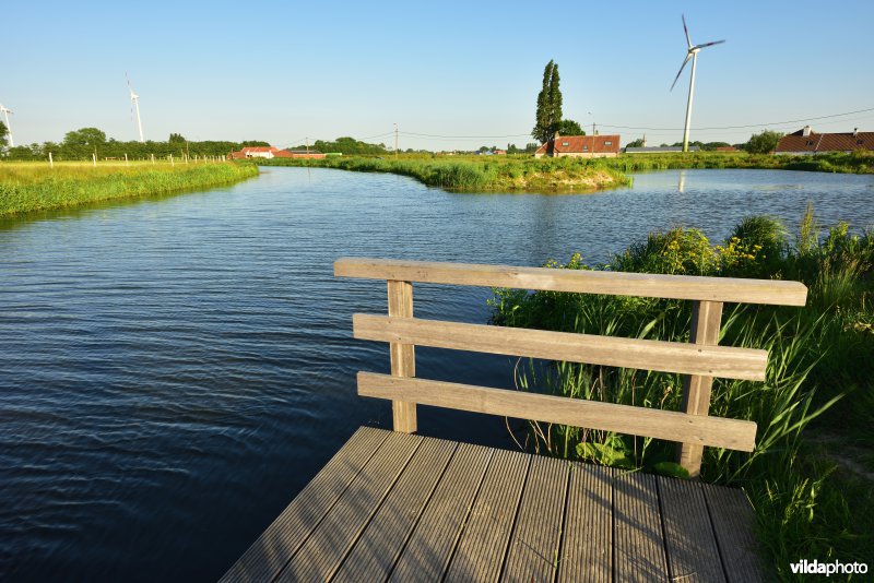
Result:
{"type": "Polygon", "coordinates": [[[339,260],[388,282],[388,317],[356,338],[390,345],[391,374],[358,394],[392,401],[394,431],[361,428],[223,581],[730,581],[763,579],[742,490],[414,435],[416,405],[677,443],[697,477],[705,447],[755,448],[756,424],[709,415],[713,377],[764,380],[765,350],[719,346],[722,305],[803,306],[795,282],[339,260]],[[688,343],[413,318],[412,282],[688,299],[688,343]],[[416,345],[684,374],[682,411],[415,377],[416,345]]]}

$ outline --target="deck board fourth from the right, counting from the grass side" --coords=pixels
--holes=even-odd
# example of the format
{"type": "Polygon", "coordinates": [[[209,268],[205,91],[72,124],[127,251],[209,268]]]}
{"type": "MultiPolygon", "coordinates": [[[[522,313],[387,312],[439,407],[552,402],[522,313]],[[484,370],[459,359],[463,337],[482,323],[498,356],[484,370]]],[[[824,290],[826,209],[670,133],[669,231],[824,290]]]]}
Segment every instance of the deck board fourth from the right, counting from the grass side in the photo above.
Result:
{"type": "Polygon", "coordinates": [[[613,480],[616,471],[575,463],[562,549],[558,581],[613,581],[613,480]]]}

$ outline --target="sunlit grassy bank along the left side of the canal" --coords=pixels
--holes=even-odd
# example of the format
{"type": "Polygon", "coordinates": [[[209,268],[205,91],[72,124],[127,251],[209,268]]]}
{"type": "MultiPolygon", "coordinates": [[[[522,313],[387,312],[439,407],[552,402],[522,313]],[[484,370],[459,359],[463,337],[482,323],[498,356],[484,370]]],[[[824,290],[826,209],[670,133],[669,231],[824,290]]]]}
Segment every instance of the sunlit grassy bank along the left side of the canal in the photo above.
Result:
{"type": "Polygon", "coordinates": [[[258,175],[253,164],[0,163],[0,216],[64,209],[236,182],[258,175]]]}

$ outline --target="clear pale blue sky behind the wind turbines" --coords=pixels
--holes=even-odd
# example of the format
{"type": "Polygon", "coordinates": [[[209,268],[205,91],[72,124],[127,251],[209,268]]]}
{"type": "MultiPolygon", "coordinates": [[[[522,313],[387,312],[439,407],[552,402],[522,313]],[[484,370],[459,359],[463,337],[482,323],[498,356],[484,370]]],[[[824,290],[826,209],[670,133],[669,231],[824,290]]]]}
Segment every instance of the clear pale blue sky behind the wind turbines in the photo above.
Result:
{"type": "MultiPolygon", "coordinates": [[[[152,140],[391,145],[397,122],[402,148],[522,145],[554,59],[566,118],[670,143],[688,87],[687,68],[668,91],[685,56],[681,13],[694,43],[728,39],[698,58],[692,140],[874,108],[874,2],[760,0],[10,2],[0,103],[19,144],[83,127],[133,140],[128,72],[152,140]],[[702,129],[747,124],[761,126],[702,129]]],[[[874,110],[811,124],[874,130],[874,110]]]]}

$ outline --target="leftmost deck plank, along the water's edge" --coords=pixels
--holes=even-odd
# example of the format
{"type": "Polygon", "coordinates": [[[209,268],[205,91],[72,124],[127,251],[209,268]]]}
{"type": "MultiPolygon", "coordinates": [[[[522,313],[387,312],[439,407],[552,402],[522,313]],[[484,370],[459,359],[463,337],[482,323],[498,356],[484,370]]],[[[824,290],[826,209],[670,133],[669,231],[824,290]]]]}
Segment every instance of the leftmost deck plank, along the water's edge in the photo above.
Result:
{"type": "Polygon", "coordinates": [[[273,579],[388,437],[388,431],[359,428],[231,567],[222,581],[273,579]]]}

